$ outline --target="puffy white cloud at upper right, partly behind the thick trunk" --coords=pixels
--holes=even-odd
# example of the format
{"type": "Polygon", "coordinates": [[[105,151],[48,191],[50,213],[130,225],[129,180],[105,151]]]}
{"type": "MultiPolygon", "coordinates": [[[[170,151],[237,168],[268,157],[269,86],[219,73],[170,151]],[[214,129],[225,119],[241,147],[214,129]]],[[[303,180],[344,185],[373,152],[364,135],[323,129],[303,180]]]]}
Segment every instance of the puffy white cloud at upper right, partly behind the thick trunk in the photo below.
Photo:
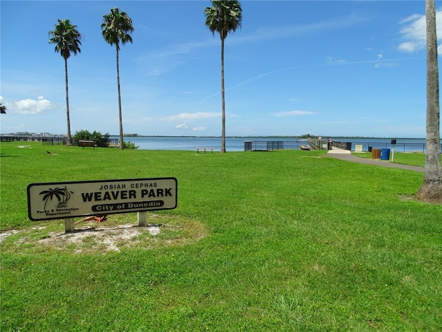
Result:
{"type": "MultiPolygon", "coordinates": [[[[436,10],[437,35],[442,36],[442,11],[436,10]]],[[[405,42],[399,44],[398,50],[405,53],[413,53],[425,48],[426,23],[425,15],[413,14],[399,22],[403,26],[399,33],[405,42]]],[[[439,38],[438,38],[439,39],[439,38]]]]}

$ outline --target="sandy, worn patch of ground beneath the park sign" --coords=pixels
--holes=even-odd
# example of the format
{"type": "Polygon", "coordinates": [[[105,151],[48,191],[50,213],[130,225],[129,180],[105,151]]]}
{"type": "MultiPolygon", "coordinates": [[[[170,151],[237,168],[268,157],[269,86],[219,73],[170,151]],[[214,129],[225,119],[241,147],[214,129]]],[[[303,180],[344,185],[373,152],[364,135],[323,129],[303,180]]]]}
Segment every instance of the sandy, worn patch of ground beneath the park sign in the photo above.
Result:
{"type": "Polygon", "coordinates": [[[77,221],[75,232],[64,232],[64,223],[8,230],[0,234],[2,251],[59,250],[73,253],[119,252],[123,248],[152,249],[184,245],[206,236],[204,224],[181,216],[151,214],[148,225],[118,223],[112,217],[102,223],[77,221]]]}

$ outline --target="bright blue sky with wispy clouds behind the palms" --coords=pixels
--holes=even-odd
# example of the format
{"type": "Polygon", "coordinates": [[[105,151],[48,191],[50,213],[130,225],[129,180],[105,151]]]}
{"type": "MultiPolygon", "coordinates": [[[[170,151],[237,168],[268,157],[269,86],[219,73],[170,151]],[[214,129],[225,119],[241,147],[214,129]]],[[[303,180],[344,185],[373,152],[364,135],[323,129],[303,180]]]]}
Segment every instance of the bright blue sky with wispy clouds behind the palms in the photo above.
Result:
{"type": "MultiPolygon", "coordinates": [[[[242,28],[225,44],[227,136],[425,138],[425,1],[241,4],[242,28]]],[[[64,60],[48,31],[70,19],[83,35],[68,59],[71,131],[118,134],[115,48],[100,28],[118,7],[135,28],[119,57],[124,133],[220,136],[210,5],[2,0],[1,133],[67,132],[64,60]]]]}

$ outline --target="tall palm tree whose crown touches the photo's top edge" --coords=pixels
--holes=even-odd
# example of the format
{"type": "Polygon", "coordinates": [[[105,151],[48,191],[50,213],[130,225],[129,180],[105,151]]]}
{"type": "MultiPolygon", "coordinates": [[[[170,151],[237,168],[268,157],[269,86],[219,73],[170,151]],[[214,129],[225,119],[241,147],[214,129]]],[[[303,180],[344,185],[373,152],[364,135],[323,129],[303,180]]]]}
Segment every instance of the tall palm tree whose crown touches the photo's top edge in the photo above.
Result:
{"type": "Polygon", "coordinates": [[[238,0],[212,0],[212,6],[204,10],[206,26],[220,33],[221,38],[221,100],[222,100],[222,134],[221,153],[226,151],[226,106],[224,98],[224,40],[227,35],[241,27],[242,8],[238,0]]]}

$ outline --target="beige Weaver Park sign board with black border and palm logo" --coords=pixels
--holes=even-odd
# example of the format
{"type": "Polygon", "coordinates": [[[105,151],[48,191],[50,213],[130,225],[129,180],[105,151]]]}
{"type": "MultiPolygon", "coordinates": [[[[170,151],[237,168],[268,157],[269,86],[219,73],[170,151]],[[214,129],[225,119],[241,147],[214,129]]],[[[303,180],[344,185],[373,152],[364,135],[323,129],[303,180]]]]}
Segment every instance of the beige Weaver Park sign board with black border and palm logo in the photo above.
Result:
{"type": "Polygon", "coordinates": [[[28,185],[28,216],[33,221],[169,210],[176,206],[176,178],[134,178],[28,185]]]}

